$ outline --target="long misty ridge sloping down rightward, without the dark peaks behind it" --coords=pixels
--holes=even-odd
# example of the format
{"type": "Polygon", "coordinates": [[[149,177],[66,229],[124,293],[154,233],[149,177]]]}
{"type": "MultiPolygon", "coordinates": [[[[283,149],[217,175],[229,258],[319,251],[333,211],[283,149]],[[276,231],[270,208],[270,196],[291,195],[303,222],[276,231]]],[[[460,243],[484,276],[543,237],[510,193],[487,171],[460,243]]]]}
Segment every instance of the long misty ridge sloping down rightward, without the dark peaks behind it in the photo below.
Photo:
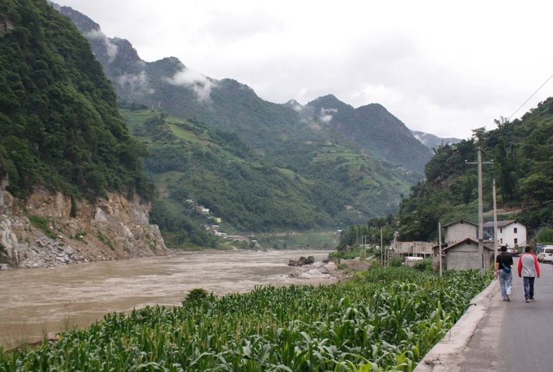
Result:
{"type": "Polygon", "coordinates": [[[319,114],[306,117],[264,101],[238,81],[210,79],[174,57],[142,61],[128,41],[106,38],[100,26],[70,8],[59,10],[91,41],[121,106],[140,102],[209,128],[236,132],[261,159],[339,190],[344,204],[361,219],[395,213],[400,195],[420,179],[420,174],[380,161],[319,114]]]}

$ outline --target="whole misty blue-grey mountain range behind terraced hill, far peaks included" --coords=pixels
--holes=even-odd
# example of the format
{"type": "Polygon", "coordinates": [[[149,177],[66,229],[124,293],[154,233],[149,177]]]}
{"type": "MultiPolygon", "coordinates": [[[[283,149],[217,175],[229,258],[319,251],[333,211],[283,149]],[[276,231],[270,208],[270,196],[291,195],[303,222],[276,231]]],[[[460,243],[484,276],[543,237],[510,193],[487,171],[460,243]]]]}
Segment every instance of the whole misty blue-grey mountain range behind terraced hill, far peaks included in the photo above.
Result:
{"type": "Polygon", "coordinates": [[[306,106],[274,104],[245,84],[206,77],[175,57],[142,61],[129,41],[106,37],[97,23],[71,8],[57,9],[91,42],[120,107],[146,104],[238,133],[261,159],[312,185],[340,190],[344,208],[356,218],[395,213],[400,195],[421,179],[416,172],[422,171],[430,151],[382,106],[355,109],[337,99],[331,105],[325,97],[306,106]],[[373,111],[377,117],[371,116],[373,111]],[[411,157],[397,155],[411,148],[411,157]]]}

